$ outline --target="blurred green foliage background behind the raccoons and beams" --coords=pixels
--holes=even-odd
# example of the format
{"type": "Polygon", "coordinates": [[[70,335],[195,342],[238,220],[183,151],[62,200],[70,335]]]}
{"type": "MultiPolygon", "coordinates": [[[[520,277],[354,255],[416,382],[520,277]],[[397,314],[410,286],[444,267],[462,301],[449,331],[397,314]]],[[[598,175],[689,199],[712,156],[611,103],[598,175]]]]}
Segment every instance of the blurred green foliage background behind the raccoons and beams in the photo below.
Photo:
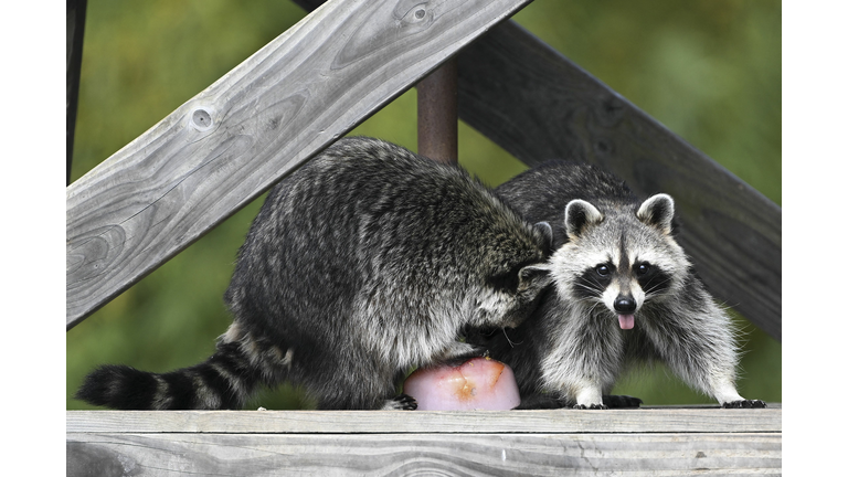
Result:
{"type": "MultiPolygon", "coordinates": [[[[88,0],[72,180],[135,139],[305,17],[286,0],[88,0]]],[[[781,204],[781,2],[537,0],[521,25],[781,204]]],[[[354,129],[416,149],[415,89],[354,129]]],[[[497,186],[524,166],[459,125],[459,162],[497,186]]],[[[124,363],[165,372],[214,351],[223,293],[263,198],[66,333],[67,409],[86,372],[124,363]]],[[[781,402],[781,344],[742,317],[740,392],[781,402]]],[[[645,404],[711,403],[662,367],[616,393],[645,404]]],[[[250,406],[300,409],[298,390],[250,406]]]]}

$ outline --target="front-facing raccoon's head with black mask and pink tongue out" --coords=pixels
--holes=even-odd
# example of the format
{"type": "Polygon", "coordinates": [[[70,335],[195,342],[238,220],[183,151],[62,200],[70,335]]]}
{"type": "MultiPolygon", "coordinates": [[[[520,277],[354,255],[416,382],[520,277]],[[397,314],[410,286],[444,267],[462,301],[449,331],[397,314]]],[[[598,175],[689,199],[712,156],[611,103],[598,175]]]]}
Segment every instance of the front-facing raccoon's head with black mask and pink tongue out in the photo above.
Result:
{"type": "Polygon", "coordinates": [[[632,329],[643,305],[669,295],[689,266],[670,236],[672,215],[674,202],[665,194],[638,211],[606,215],[589,202],[570,202],[569,242],[551,258],[560,296],[603,306],[622,329],[632,329]]]}

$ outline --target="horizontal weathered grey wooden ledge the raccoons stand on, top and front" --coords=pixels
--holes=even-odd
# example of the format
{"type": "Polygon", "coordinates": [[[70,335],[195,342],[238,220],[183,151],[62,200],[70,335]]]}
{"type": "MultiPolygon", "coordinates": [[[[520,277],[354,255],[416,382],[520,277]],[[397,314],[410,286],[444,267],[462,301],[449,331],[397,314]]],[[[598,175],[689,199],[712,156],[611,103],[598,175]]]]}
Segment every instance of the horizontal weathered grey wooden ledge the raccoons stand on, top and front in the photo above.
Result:
{"type": "Polygon", "coordinates": [[[782,409],[67,411],[67,476],[781,475],[782,409]]]}

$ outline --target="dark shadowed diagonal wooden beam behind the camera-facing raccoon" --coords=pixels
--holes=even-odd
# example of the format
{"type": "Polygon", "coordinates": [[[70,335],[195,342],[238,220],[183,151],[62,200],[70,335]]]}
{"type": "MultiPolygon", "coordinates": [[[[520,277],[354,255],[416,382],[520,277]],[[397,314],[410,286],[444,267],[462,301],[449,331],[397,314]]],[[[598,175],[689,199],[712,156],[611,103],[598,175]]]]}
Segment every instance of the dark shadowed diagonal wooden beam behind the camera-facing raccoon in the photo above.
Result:
{"type": "Polygon", "coordinates": [[[777,205],[512,21],[458,63],[460,119],[527,165],[581,158],[672,195],[707,287],[780,341],[777,205]]]}

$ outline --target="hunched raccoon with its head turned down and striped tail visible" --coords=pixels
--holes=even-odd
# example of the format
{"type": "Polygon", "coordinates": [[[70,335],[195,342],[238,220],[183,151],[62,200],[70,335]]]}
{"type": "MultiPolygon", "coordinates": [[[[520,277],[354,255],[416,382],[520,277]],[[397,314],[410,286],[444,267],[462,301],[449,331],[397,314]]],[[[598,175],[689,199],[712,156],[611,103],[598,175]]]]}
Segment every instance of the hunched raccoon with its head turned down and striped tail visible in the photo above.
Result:
{"type": "Polygon", "coordinates": [[[105,365],[77,398],[132,410],[241,409],[288,381],[324,410],[415,409],[411,368],[480,350],[467,326],[515,327],[550,285],[548,224],[531,225],[458,167],[372,138],[337,141],[274,187],[205,362],[105,365]]]}

